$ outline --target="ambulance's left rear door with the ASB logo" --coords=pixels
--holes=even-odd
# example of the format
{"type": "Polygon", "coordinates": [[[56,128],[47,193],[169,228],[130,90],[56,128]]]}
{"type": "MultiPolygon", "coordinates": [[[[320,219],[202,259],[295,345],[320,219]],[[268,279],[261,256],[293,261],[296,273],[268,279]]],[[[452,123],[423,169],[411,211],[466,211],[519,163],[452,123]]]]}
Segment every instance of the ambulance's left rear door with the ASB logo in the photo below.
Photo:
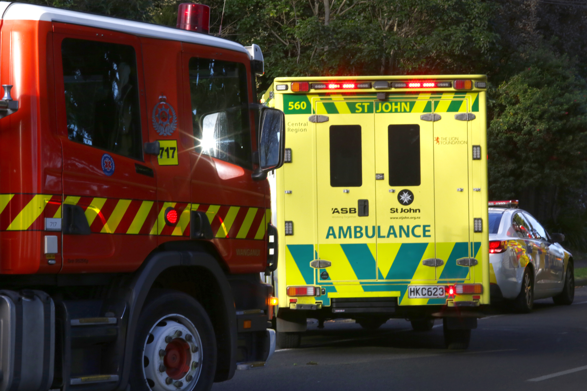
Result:
{"type": "Polygon", "coordinates": [[[373,101],[318,101],[318,281],[376,280],[373,101]]]}

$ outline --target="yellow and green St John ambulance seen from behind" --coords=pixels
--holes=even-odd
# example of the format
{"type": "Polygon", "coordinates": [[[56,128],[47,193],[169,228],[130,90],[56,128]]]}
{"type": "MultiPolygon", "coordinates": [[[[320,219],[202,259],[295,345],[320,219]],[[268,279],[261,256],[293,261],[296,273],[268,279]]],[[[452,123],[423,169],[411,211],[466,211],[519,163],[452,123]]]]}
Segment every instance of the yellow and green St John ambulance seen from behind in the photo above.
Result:
{"type": "Polygon", "coordinates": [[[483,75],[274,80],[262,102],[286,124],[270,178],[279,346],[299,346],[308,318],[416,331],[441,318],[447,347],[467,348],[490,295],[486,87],[483,75]]]}

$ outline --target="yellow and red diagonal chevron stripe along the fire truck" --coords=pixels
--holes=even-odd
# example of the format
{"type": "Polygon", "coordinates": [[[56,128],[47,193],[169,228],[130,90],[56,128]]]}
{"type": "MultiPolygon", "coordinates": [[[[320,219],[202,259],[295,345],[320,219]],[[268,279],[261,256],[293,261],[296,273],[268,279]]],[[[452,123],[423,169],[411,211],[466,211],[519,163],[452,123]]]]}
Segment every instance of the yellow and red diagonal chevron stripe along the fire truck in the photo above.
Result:
{"type": "MultiPolygon", "coordinates": [[[[271,210],[248,206],[210,205],[154,200],[66,196],[63,203],[79,205],[92,233],[190,236],[190,211],[204,212],[218,239],[265,239],[271,210]],[[174,226],[164,220],[167,208],[177,210],[174,226]]],[[[0,194],[0,231],[44,230],[44,218],[61,217],[62,196],[0,194]]]]}

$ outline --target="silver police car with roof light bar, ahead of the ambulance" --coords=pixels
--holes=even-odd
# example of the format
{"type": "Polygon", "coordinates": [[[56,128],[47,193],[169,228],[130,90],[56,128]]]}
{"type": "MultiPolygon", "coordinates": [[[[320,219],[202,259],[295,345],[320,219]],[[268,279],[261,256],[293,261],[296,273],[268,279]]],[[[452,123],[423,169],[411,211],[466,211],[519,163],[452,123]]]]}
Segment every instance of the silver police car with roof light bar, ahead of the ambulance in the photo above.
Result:
{"type": "Polygon", "coordinates": [[[561,246],[565,236],[548,234],[517,200],[489,202],[491,300],[507,299],[518,312],[535,299],[571,304],[575,295],[573,258],[561,246]]]}

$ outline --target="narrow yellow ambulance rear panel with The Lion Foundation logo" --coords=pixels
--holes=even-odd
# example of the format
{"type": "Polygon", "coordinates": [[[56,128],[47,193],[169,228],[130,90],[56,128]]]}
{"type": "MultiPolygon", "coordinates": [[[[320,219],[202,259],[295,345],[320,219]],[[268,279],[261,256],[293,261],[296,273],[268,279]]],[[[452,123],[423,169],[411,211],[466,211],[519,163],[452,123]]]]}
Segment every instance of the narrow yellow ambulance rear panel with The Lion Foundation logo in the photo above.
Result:
{"type": "Polygon", "coordinates": [[[471,145],[467,121],[455,114],[467,111],[466,100],[434,100],[434,235],[439,280],[468,280],[469,266],[459,259],[473,257],[469,186],[471,145]]]}

